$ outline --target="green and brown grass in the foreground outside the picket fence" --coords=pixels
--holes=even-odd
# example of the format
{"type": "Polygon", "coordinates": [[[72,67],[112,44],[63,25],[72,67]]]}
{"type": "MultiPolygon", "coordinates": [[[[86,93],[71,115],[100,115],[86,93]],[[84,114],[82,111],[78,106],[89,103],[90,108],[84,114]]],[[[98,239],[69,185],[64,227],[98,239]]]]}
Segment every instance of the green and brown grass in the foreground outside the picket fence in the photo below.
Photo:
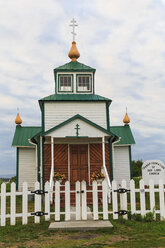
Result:
{"type": "Polygon", "coordinates": [[[113,229],[90,232],[48,231],[48,222],[0,227],[0,247],[165,247],[165,221],[111,220],[113,229]]]}

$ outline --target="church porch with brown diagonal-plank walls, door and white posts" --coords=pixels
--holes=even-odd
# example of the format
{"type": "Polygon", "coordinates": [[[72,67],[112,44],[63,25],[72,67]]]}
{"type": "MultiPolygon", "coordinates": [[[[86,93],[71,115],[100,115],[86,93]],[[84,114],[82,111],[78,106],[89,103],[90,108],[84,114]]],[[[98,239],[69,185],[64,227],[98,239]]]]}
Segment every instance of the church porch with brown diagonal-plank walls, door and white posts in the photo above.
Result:
{"type": "Polygon", "coordinates": [[[109,137],[45,137],[44,182],[53,181],[54,172],[65,175],[70,185],[86,181],[91,185],[94,171],[102,171],[110,185],[111,158],[109,137]]]}

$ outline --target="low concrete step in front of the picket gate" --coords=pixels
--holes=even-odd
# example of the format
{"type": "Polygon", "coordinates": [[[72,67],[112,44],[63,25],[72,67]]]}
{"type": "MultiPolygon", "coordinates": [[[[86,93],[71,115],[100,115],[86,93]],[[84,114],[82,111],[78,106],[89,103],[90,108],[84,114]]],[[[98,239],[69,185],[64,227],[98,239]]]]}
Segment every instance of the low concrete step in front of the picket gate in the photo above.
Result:
{"type": "Polygon", "coordinates": [[[80,221],[61,221],[53,222],[49,226],[49,230],[61,229],[61,230],[76,230],[76,231],[90,231],[103,228],[112,228],[113,225],[108,220],[80,220],[80,221]]]}

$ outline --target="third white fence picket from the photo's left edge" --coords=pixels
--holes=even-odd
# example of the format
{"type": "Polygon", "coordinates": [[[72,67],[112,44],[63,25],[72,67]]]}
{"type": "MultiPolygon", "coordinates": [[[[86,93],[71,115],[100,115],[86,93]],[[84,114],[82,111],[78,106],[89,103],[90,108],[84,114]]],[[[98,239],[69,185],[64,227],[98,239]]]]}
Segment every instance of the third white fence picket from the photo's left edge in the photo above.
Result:
{"type": "Polygon", "coordinates": [[[22,184],[22,224],[28,223],[28,185],[26,182],[22,184]]]}

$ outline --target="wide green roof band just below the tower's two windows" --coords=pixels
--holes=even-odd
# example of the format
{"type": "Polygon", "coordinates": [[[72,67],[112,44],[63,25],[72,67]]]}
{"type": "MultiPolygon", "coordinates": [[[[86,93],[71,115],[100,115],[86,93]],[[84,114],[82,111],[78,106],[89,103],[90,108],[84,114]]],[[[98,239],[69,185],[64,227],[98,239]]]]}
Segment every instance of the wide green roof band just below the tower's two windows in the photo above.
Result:
{"type": "Polygon", "coordinates": [[[112,100],[103,96],[95,94],[53,94],[46,96],[40,101],[107,101],[111,102],[112,100]]]}

